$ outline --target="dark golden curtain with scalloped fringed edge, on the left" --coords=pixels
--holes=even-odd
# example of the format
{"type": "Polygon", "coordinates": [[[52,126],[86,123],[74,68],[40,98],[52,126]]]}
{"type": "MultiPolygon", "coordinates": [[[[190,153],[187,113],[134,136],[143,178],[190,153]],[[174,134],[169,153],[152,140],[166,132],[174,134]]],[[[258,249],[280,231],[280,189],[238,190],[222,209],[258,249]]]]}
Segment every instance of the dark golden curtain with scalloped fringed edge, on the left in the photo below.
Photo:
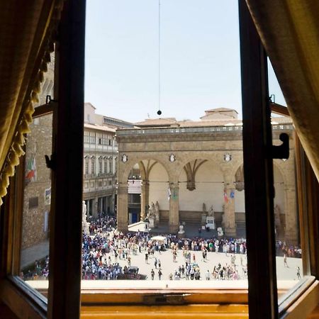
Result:
{"type": "Polygon", "coordinates": [[[0,10],[0,204],[23,154],[52,33],[62,1],[1,1],[0,10]]]}

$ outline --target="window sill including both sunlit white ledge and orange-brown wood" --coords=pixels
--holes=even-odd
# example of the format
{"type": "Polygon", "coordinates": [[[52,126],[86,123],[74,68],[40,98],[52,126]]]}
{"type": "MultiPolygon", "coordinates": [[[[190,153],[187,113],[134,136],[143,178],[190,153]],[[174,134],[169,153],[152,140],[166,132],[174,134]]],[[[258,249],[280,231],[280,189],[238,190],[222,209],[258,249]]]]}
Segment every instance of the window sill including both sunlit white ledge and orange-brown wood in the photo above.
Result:
{"type": "MultiPolygon", "coordinates": [[[[47,291],[48,281],[13,281],[47,291]]],[[[134,288],[130,284],[132,281],[82,281],[81,318],[248,318],[247,281],[199,281],[202,287],[196,282],[196,289],[191,289],[194,281],[135,281],[134,288]]],[[[313,277],[305,277],[297,286],[296,281],[279,281],[278,286],[279,294],[285,293],[279,318],[308,318],[318,305],[319,281],[313,277]]]]}

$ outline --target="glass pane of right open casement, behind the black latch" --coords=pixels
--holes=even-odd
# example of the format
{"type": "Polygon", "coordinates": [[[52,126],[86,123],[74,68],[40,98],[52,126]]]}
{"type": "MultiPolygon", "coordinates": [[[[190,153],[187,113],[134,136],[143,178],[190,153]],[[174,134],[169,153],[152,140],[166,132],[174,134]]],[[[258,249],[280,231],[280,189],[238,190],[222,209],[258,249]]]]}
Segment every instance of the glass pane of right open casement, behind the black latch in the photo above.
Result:
{"type": "MultiPolygon", "coordinates": [[[[280,86],[268,62],[269,94],[272,100],[285,106],[280,86]],[[277,99],[279,96],[279,99],[277,99]]],[[[303,269],[301,250],[301,211],[298,211],[296,131],[289,116],[272,113],[273,144],[281,145],[281,133],[289,135],[289,159],[274,159],[274,226],[276,235],[276,276],[279,291],[291,289],[307,274],[303,269]]],[[[305,212],[306,213],[306,212],[305,212]]],[[[279,293],[279,302],[282,300],[279,293]]]]}

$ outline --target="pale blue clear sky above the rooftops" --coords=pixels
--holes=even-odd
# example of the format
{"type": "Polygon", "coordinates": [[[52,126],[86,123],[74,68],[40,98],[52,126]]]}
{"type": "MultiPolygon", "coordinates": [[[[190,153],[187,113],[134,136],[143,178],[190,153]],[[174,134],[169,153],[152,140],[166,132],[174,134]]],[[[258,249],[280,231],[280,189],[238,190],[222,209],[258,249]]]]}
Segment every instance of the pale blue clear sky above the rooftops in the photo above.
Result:
{"type": "MultiPolygon", "coordinates": [[[[239,45],[237,0],[160,0],[160,19],[159,0],[88,0],[85,101],[133,123],[219,107],[241,118],[239,45]]],[[[269,94],[286,105],[272,69],[269,94]]]]}

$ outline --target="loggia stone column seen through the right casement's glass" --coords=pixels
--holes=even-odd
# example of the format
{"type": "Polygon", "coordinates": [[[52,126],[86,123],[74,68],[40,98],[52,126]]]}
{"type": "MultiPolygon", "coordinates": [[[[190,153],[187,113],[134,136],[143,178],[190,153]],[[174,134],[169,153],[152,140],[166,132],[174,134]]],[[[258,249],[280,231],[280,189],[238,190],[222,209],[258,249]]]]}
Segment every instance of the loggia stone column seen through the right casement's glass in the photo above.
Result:
{"type": "Polygon", "coordinates": [[[296,212],[296,189],[285,187],[285,240],[288,244],[298,244],[298,216],[296,212]]]}

